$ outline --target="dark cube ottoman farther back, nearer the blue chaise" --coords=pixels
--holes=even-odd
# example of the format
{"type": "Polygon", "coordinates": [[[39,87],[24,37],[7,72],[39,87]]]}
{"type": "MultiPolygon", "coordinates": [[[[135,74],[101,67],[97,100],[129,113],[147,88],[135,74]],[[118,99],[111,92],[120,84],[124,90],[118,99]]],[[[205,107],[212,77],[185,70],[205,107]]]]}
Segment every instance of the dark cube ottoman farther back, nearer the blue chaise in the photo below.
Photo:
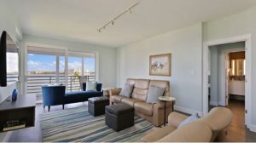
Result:
{"type": "Polygon", "coordinates": [[[88,112],[93,116],[99,116],[105,113],[105,106],[109,105],[108,97],[93,97],[88,99],[88,112]]]}

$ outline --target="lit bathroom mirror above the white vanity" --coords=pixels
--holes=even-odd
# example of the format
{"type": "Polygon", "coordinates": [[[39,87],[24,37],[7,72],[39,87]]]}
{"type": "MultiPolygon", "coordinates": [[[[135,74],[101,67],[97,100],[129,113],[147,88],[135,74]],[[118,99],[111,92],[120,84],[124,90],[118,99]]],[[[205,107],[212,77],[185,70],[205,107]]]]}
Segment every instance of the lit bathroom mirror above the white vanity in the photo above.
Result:
{"type": "Polygon", "coordinates": [[[231,76],[245,76],[245,60],[231,60],[231,76]]]}

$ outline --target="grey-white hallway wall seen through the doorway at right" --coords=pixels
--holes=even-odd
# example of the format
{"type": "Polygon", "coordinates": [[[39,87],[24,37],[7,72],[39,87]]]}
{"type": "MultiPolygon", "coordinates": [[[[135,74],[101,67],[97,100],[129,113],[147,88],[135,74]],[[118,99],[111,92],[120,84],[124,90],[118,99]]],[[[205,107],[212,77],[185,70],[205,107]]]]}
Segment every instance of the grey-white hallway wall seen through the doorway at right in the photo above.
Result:
{"type": "Polygon", "coordinates": [[[222,73],[224,72],[224,62],[221,60],[222,54],[226,50],[231,49],[245,49],[245,42],[239,43],[227,43],[222,45],[211,46],[211,100],[210,104],[212,106],[225,106],[225,95],[221,93],[222,89],[225,87],[223,85],[224,78],[222,77],[222,73]]]}

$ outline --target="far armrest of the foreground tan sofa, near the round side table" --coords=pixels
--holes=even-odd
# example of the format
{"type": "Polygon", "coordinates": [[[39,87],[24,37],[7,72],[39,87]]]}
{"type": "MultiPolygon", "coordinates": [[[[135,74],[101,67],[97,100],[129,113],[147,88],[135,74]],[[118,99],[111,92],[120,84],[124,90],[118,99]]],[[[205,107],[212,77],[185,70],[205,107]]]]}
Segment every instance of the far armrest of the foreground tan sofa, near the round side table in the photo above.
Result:
{"type": "Polygon", "coordinates": [[[182,123],[183,120],[185,120],[188,116],[183,115],[181,113],[178,112],[172,112],[169,116],[168,116],[168,125],[172,125],[174,127],[177,128],[179,123],[182,123]]]}

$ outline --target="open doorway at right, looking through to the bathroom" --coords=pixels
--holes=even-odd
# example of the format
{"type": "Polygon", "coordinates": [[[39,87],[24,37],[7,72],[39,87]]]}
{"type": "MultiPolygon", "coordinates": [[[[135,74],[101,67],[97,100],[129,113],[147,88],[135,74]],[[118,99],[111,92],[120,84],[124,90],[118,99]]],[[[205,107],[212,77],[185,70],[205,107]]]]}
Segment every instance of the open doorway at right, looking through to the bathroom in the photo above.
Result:
{"type": "Polygon", "coordinates": [[[209,111],[215,106],[229,108],[233,120],[227,141],[246,141],[245,42],[210,46],[209,55],[209,111]]]}

